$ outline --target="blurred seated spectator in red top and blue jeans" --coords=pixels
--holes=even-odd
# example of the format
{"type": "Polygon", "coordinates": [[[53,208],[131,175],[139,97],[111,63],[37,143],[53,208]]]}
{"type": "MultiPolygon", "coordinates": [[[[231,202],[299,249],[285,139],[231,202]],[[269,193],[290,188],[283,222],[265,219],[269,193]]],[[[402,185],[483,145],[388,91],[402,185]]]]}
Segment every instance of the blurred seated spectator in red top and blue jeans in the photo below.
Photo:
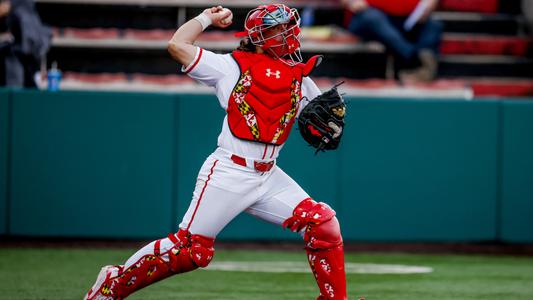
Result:
{"type": "Polygon", "coordinates": [[[431,81],[443,25],[431,18],[438,0],[342,0],[353,15],[348,29],[364,40],[379,41],[394,57],[402,81],[431,81]]]}

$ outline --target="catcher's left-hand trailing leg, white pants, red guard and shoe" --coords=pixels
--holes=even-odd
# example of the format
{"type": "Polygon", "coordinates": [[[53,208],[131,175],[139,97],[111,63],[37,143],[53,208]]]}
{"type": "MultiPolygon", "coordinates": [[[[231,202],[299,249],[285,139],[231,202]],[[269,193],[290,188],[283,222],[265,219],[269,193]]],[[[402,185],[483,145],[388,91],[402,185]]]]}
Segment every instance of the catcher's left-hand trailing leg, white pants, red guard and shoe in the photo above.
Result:
{"type": "MultiPolygon", "coordinates": [[[[214,255],[216,235],[252,202],[249,190],[219,188],[227,180],[225,164],[208,159],[200,173],[193,199],[176,234],[153,241],[123,266],[102,268],[85,299],[124,299],[131,293],[178,273],[206,267],[214,255]]],[[[237,179],[235,179],[237,180],[237,179]]]]}

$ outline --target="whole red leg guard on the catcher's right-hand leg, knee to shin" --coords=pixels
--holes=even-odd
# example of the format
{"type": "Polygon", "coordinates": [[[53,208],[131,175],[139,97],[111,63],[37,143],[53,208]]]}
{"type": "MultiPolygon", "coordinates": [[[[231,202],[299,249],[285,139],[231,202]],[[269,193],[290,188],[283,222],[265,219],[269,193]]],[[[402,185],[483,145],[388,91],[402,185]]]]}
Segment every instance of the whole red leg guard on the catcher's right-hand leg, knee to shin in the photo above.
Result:
{"type": "Polygon", "coordinates": [[[344,249],[335,211],[325,203],[306,199],[283,225],[296,230],[307,226],[304,240],[309,265],[320,289],[317,300],[348,299],[344,249]]]}

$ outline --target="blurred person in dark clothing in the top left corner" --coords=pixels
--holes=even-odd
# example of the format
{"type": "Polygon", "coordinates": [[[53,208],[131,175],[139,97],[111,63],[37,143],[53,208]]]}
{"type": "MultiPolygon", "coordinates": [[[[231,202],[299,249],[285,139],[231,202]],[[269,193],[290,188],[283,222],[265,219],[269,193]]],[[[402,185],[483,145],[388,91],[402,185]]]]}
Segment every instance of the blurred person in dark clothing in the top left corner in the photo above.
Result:
{"type": "MultiPolygon", "coordinates": [[[[36,87],[36,76],[52,38],[52,30],[41,23],[33,0],[0,0],[5,16],[0,27],[3,85],[36,87]],[[4,8],[4,7],[7,7],[4,8]]],[[[0,76],[2,77],[2,76],[0,76]]]]}

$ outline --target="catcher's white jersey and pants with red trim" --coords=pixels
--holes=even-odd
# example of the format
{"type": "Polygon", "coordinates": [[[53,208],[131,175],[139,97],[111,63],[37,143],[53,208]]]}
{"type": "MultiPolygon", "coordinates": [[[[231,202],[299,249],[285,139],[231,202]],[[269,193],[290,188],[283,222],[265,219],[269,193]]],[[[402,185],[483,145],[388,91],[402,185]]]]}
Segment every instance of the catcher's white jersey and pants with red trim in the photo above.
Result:
{"type": "MultiPolygon", "coordinates": [[[[240,76],[237,62],[230,54],[215,54],[197,48],[193,62],[183,68],[191,78],[214,87],[220,106],[226,110],[230,94],[240,76]]],[[[320,94],[308,77],[302,81],[302,99],[320,94]]],[[[299,111],[305,106],[300,102],[299,111]]],[[[293,209],[309,195],[281,168],[258,172],[255,162],[272,162],[283,145],[275,146],[235,137],[227,115],[218,136],[218,148],[200,169],[189,209],[180,228],[192,234],[216,237],[239,213],[246,211],[262,220],[281,225],[293,209]],[[246,160],[246,167],[236,164],[232,155],[246,160]]]]}

